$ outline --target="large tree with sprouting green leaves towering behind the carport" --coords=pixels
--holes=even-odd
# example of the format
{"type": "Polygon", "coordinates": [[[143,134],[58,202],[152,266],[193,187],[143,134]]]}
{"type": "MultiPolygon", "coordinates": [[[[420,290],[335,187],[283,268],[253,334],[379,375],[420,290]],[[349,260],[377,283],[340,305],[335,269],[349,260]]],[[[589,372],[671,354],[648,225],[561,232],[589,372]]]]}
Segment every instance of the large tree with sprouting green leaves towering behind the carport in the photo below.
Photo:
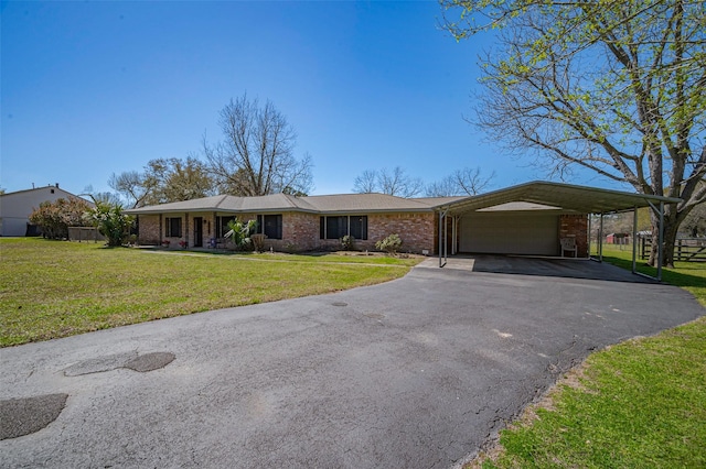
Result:
{"type": "MultiPolygon", "coordinates": [[[[475,122],[550,174],[575,167],[678,197],[665,263],[706,200],[705,0],[441,0],[457,40],[494,30],[475,122]]],[[[659,218],[652,214],[656,238],[659,218]]],[[[656,243],[655,243],[656,244],[656,243]]],[[[650,263],[656,261],[656,246],[650,263]]]]}

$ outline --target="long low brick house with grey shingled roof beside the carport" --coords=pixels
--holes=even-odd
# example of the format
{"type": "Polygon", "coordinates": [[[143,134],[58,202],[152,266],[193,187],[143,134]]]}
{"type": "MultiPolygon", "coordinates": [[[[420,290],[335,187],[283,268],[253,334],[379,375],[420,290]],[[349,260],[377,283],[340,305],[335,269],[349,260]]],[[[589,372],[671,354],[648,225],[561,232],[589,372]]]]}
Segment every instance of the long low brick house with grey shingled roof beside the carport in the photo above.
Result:
{"type": "Polygon", "coordinates": [[[355,248],[374,250],[392,233],[403,239],[403,250],[432,253],[437,217],[434,207],[462,197],[406,199],[384,194],[296,197],[229,195],[162,204],[126,210],[138,216],[138,241],[193,248],[214,246],[228,231],[228,221],[257,220],[265,248],[276,251],[331,250],[341,238],[355,238],[355,248]]]}

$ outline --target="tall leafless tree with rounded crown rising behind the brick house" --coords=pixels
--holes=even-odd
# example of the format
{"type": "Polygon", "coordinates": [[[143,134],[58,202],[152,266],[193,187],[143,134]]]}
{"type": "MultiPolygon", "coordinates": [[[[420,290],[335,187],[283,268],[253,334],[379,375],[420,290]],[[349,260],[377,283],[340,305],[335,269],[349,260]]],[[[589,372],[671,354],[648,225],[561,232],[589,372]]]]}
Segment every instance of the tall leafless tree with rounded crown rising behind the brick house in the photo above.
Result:
{"type": "Polygon", "coordinates": [[[218,122],[224,139],[210,145],[204,138],[203,151],[222,193],[260,196],[311,190],[311,156],[295,157],[295,130],[270,101],[260,106],[243,95],[221,110],[218,122]]]}

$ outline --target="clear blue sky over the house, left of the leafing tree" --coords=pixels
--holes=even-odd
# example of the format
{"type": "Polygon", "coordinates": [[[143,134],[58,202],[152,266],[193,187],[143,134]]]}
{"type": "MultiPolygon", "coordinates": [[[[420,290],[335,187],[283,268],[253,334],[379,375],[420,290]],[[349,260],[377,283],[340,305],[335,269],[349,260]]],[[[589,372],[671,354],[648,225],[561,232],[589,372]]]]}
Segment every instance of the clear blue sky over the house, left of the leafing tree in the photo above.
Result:
{"type": "MultiPolygon", "coordinates": [[[[110,190],[111,173],[199,154],[232,99],[271,100],[313,159],[313,194],[364,170],[493,188],[546,178],[469,126],[477,56],[425,2],[2,2],[0,187],[110,190]]],[[[571,181],[605,185],[591,174],[571,181]],[[601,184],[602,183],[602,184],[601,184]]]]}

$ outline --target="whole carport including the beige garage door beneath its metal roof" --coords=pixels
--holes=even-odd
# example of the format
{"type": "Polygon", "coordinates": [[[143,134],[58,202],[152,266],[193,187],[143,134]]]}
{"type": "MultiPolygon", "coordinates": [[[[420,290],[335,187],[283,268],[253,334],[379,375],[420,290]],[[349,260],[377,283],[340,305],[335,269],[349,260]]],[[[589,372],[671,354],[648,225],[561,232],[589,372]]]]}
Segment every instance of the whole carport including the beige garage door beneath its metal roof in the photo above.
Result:
{"type": "MultiPolygon", "coordinates": [[[[470,196],[435,207],[439,214],[439,266],[449,254],[458,251],[559,255],[559,217],[588,217],[587,253],[590,257],[590,215],[600,217],[598,258],[602,261],[602,220],[607,214],[633,211],[633,239],[638,208],[651,207],[660,217],[657,275],[662,279],[664,205],[681,199],[646,194],[633,194],[596,187],[549,182],[532,182],[470,196]],[[449,233],[450,226],[450,233],[449,233]],[[450,236],[449,236],[450,234],[450,236]]],[[[632,272],[637,272],[637,250],[633,242],[632,272]]]]}

